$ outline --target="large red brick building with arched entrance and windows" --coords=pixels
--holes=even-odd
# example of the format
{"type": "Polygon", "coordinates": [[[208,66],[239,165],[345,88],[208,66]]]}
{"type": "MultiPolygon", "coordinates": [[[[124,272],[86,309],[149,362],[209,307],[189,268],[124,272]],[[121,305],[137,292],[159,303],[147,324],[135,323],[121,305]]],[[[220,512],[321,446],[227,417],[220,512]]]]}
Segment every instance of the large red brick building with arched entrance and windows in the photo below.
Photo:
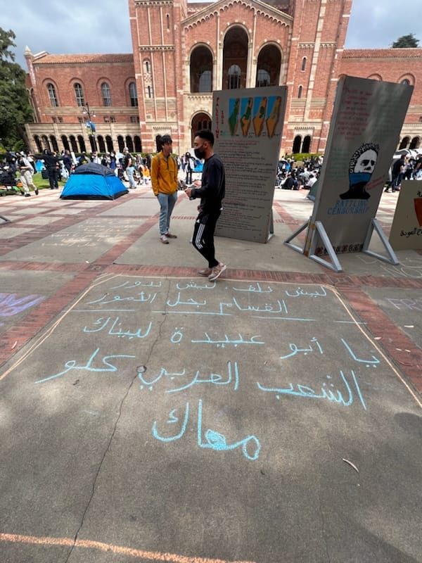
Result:
{"type": "Polygon", "coordinates": [[[324,152],[341,75],[414,84],[397,144],[419,146],[422,49],[345,50],[352,0],[128,1],[133,55],[25,51],[32,151],[152,152],[170,133],[184,153],[212,91],[286,84],[282,153],[324,152]]]}

